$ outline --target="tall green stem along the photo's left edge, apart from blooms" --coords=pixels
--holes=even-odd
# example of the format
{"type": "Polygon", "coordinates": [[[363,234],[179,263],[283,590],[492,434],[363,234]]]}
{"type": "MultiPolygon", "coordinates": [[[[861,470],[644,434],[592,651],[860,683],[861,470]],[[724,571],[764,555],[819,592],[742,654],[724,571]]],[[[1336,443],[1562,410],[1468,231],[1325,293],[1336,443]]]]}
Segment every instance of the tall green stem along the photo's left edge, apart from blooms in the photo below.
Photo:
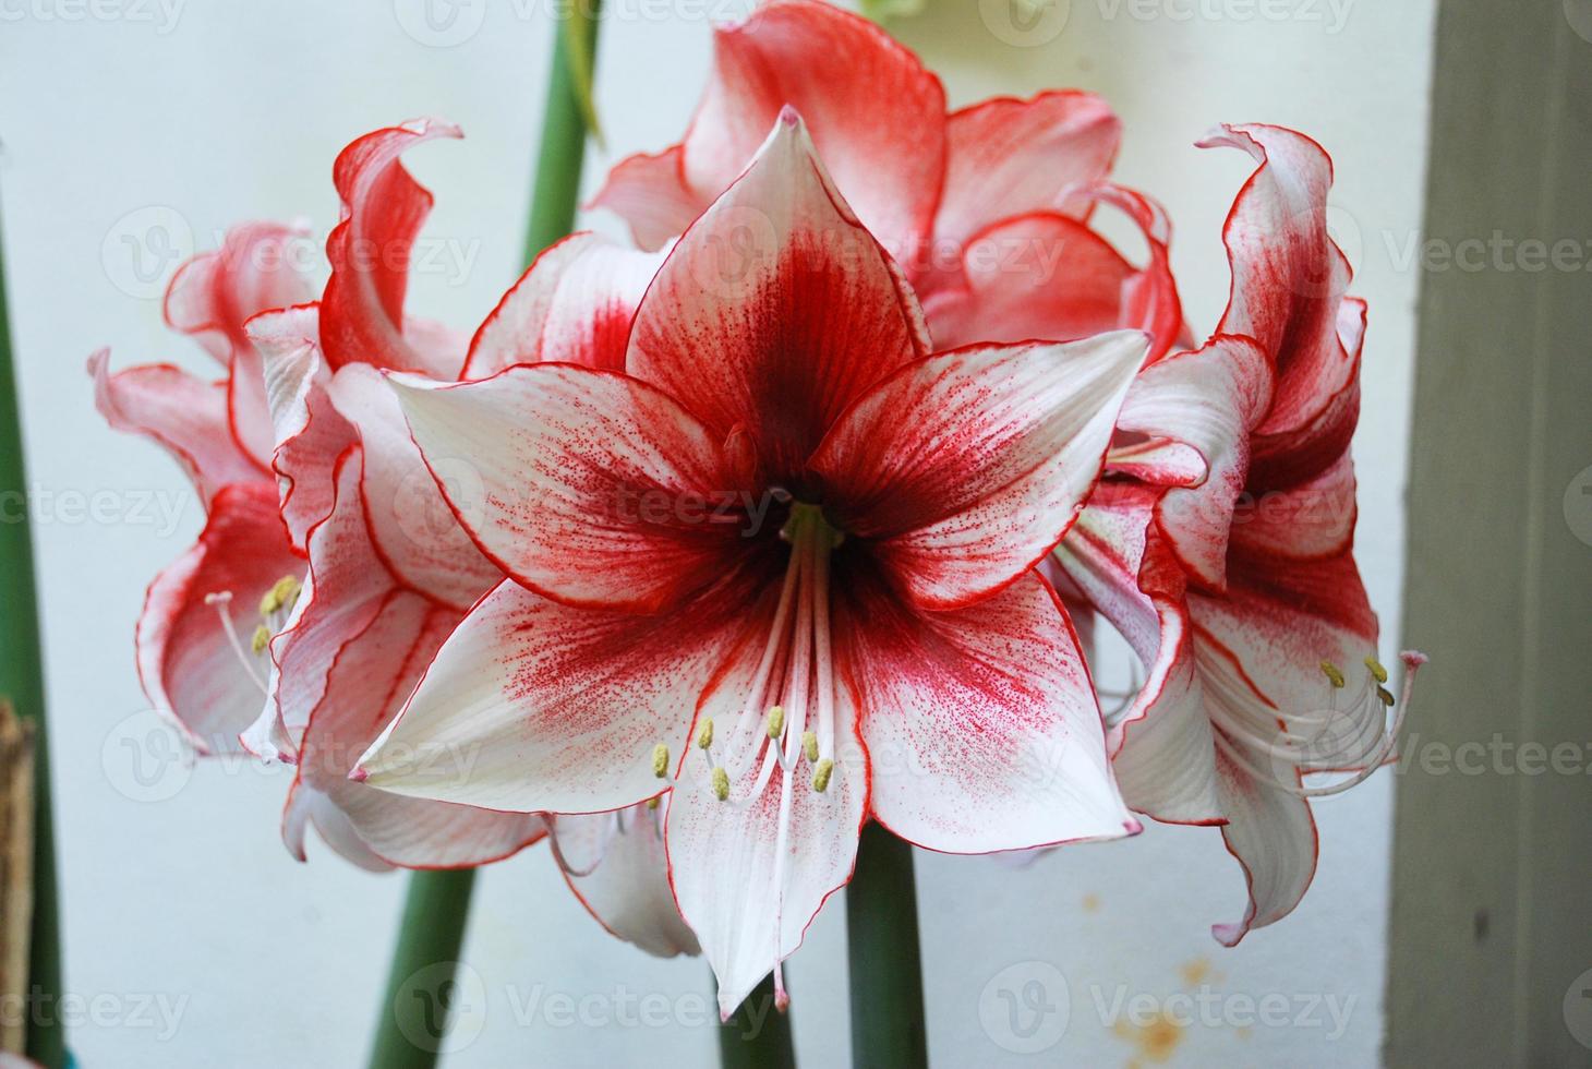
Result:
{"type": "MultiPolygon", "coordinates": [[[[3,245],[3,239],[0,239],[3,245]]],[[[33,586],[33,538],[27,523],[27,468],[22,464],[22,425],[16,368],[11,363],[11,327],[6,312],[5,252],[0,247],[0,495],[21,507],[21,516],[0,521],[0,696],[33,723],[33,930],[29,953],[30,1013],[27,1055],[45,1069],[67,1064],[60,1024],[60,914],[56,902],[56,836],[49,803],[49,746],[45,731],[45,666],[38,640],[38,593],[33,586]]]]}

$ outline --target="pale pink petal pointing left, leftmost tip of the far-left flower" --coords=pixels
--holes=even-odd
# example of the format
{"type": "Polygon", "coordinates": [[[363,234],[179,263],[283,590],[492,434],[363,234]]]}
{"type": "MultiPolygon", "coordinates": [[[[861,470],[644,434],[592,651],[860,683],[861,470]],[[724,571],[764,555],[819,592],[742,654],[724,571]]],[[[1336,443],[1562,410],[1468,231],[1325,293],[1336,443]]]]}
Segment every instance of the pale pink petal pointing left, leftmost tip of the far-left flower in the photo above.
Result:
{"type": "Polygon", "coordinates": [[[229,483],[264,483],[226,416],[226,384],[202,382],[169,363],[110,373],[110,349],[89,357],[94,406],[115,430],[143,435],[183,467],[205,508],[229,483]]]}

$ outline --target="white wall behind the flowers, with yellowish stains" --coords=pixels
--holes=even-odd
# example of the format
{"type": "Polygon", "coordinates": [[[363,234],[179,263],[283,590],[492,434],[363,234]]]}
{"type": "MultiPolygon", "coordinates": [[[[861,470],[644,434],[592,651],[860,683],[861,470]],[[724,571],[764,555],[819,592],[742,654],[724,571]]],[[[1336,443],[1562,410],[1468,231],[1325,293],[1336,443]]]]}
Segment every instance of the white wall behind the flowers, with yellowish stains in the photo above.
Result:
{"type": "MultiPolygon", "coordinates": [[[[143,585],[189,543],[201,510],[153,446],[103,427],[83,358],[111,344],[116,365],[204,368],[162,328],[153,295],[164,274],[140,279],[126,239],[145,241],[154,255],[145,263],[169,274],[175,260],[159,256],[151,225],[175,234],[178,252],[185,233],[210,247],[248,217],[307,215],[323,233],[336,220],[338,148],[416,115],[451,118],[468,139],[408,161],[438,194],[428,233],[446,253],[416,279],[412,301],[470,327],[492,307],[519,269],[548,0],[465,0],[455,32],[479,29],[452,46],[406,32],[423,25],[411,18],[423,2],[0,0],[0,185],[40,513],[67,977],[76,994],[108,996],[100,1020],[75,1031],[84,1066],[350,1066],[365,1056],[401,878],[357,873],[325,849],[309,865],[291,862],[277,841],[282,774],[154,760],[162,752],[139,715],[132,623],[143,585]],[[84,515],[91,500],[97,516],[84,515]],[[164,769],[153,782],[134,776],[131,741],[146,771],[164,769]],[[140,996],[180,1007],[175,1031],[142,1015],[140,996]]],[[[704,76],[707,16],[747,2],[610,0],[618,18],[603,30],[599,72],[608,148],[595,164],[675,139],[704,76]]],[[[1431,0],[1071,0],[1063,25],[1062,0],[1024,46],[1001,40],[1009,29],[992,32],[997,0],[930,5],[898,30],[942,72],[955,104],[1048,86],[1113,100],[1127,119],[1119,177],[1170,207],[1197,333],[1226,295],[1218,229],[1250,164],[1191,142],[1218,121],[1264,119],[1334,153],[1334,221],[1372,315],[1355,440],[1361,564],[1391,652],[1431,0]]],[[[587,185],[599,174],[589,167],[587,185]]],[[[1375,1064],[1390,797],[1383,774],[1318,806],[1315,887],[1293,918],[1234,951],[1207,932],[1235,918],[1243,897],[1213,830],[1153,827],[1016,871],[920,856],[935,1063],[1375,1064]],[[998,1008],[1003,986],[1044,977],[1048,1002],[1070,1005],[1070,1023],[1046,1050],[1013,1053],[1009,1029],[981,1024],[981,997],[998,1008]],[[1202,986],[1224,1020],[1113,1024],[1119,994],[1132,1005],[1202,986]],[[1285,999],[1290,1016],[1313,1016],[1243,1028],[1243,997],[1267,994],[1285,999]],[[1342,1026],[1328,999],[1347,1008],[1342,1026]]],[[[603,935],[541,849],[487,870],[478,886],[466,956],[489,999],[479,1036],[447,1064],[713,1064],[702,962],[653,961],[603,935]],[[546,1013],[552,993],[607,1024],[560,1024],[546,1013]],[[665,1020],[637,1021],[637,999],[654,993],[672,1007],[665,1020]]],[[[836,899],[790,969],[807,1064],[847,1061],[844,937],[836,899]]],[[[1035,1042],[1059,1023],[1044,1018],[1051,1031],[1035,1042]]]]}

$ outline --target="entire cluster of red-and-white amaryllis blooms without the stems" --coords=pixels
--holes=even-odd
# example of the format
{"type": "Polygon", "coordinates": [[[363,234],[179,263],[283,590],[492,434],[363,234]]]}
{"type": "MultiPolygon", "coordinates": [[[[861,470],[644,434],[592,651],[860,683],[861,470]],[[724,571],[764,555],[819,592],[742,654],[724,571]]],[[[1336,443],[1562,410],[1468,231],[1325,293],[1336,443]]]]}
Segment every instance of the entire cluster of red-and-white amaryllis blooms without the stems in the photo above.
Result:
{"type": "Polygon", "coordinates": [[[1254,170],[1197,343],[1102,100],[949,112],[872,24],[777,0],[716,32],[685,140],[608,175],[634,245],[554,245],[466,343],[404,314],[400,156],[457,134],[342,151],[318,300],[287,228],[185,264],[167,319],[221,381],[91,358],[209,510],[145,688],[196,747],[296,765],[296,856],[546,838],[613,932],[700,946],[724,1012],[868,820],[960,854],[1219,827],[1250,902],[1218,938],[1294,908],[1310,798],[1393,757],[1422,661],[1395,699],[1352,556],[1364,306],[1318,145],[1204,142],[1254,170]],[[1097,620],[1143,666],[1105,711],[1097,620]]]}

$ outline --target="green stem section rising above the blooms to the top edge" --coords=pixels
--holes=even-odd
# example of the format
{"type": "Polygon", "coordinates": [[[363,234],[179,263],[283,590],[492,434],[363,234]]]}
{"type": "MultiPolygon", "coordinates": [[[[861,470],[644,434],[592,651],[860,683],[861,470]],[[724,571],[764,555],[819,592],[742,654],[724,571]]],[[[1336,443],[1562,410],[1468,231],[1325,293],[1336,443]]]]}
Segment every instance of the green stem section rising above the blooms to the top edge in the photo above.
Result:
{"type": "Polygon", "coordinates": [[[575,209],[581,198],[581,164],[586,161],[586,89],[579,70],[594,70],[602,0],[573,0],[570,25],[552,33],[552,72],[548,75],[548,105],[541,119],[541,150],[537,156],[537,196],[530,202],[525,228],[525,263],[575,229],[575,209]],[[572,57],[570,49],[581,51],[572,57]]]}

